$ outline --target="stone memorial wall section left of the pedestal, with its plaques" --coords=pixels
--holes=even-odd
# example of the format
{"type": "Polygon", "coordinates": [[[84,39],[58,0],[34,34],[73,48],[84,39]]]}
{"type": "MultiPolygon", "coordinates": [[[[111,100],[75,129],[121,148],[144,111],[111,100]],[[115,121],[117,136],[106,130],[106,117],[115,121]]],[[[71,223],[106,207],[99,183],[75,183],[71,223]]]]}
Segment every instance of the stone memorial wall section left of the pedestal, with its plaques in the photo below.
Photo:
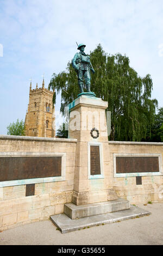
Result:
{"type": "Polygon", "coordinates": [[[0,230],[64,211],[72,200],[76,142],[0,136],[0,230]]]}

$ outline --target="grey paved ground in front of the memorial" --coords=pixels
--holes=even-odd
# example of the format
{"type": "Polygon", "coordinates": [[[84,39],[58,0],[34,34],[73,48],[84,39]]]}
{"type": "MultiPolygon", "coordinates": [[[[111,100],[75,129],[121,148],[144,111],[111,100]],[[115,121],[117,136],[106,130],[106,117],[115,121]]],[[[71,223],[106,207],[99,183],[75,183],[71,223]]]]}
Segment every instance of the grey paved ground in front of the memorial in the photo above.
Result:
{"type": "Polygon", "coordinates": [[[50,221],[0,233],[0,245],[163,245],[163,203],[139,204],[151,215],[61,234],[50,221]]]}

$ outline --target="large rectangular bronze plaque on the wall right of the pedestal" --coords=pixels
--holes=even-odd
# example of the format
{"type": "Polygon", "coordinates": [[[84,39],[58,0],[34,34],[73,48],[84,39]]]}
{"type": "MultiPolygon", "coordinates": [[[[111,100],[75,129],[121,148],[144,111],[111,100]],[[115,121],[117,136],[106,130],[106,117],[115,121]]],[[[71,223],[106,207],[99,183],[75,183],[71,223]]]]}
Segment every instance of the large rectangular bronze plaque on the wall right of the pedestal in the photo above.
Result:
{"type": "Polygon", "coordinates": [[[159,157],[154,156],[116,156],[116,173],[159,172],[159,157]]]}

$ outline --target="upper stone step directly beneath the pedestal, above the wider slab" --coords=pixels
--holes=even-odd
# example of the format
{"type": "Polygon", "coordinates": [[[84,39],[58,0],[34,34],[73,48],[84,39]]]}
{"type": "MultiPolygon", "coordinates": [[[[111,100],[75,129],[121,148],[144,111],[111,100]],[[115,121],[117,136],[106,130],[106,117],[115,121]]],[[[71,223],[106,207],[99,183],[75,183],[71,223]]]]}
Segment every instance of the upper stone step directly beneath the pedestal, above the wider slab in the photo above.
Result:
{"type": "Polygon", "coordinates": [[[75,205],[69,203],[64,205],[64,213],[72,220],[127,209],[130,209],[130,203],[122,198],[94,204],[75,205]]]}

